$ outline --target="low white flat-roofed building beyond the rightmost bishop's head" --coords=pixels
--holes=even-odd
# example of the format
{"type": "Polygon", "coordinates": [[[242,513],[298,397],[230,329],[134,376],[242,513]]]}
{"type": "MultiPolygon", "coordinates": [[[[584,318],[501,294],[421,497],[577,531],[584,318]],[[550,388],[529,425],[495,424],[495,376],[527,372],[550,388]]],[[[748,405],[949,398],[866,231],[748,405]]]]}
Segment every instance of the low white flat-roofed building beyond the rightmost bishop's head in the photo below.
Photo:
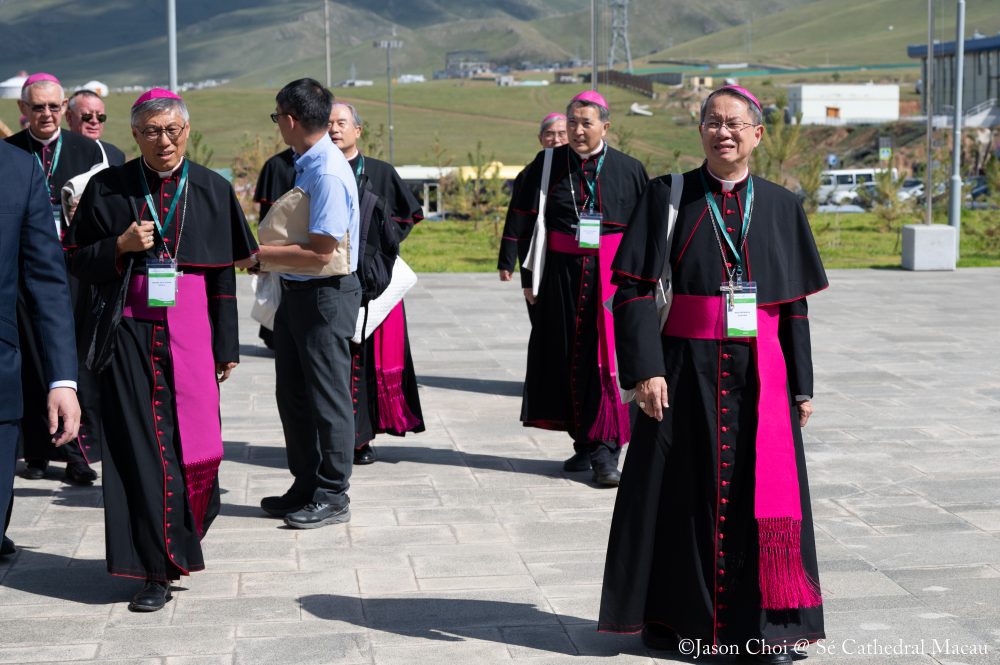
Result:
{"type": "Polygon", "coordinates": [[[788,110],[803,125],[859,125],[899,120],[898,85],[792,85],[788,110]]]}

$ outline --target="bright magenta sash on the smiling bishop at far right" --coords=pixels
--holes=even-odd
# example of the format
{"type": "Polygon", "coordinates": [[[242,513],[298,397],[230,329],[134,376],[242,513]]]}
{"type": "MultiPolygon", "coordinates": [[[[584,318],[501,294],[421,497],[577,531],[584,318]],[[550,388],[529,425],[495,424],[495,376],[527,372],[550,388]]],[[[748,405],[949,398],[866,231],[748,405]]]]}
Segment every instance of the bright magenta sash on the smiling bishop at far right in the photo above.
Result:
{"type": "MultiPolygon", "coordinates": [[[[778,305],[757,308],[757,337],[749,340],[757,370],[754,517],[759,531],[763,609],[816,607],[819,587],[802,565],[802,506],[792,436],[785,356],[778,340],[778,305]]],[[[726,338],[722,296],[675,294],[663,334],[726,338]]]]}

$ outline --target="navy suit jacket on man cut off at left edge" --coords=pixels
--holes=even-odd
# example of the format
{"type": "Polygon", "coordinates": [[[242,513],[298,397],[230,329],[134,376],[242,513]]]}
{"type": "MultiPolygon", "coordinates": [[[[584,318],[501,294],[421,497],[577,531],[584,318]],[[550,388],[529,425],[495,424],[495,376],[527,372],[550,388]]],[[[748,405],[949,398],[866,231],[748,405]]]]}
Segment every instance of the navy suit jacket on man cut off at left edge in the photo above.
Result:
{"type": "Polygon", "coordinates": [[[0,142],[0,422],[21,417],[18,281],[39,333],[45,380],[76,381],[73,309],[45,180],[34,157],[0,142]]]}

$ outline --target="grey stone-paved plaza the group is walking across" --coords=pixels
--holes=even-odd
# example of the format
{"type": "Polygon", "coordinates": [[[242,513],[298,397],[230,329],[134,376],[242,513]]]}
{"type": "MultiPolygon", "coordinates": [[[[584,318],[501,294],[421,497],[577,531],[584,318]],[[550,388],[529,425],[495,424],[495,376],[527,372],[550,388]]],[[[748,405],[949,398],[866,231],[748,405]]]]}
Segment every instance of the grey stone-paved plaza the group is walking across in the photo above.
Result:
{"type": "MultiPolygon", "coordinates": [[[[830,281],[810,301],[805,430],[829,639],[807,662],[1000,663],[1000,270],[830,281]]],[[[351,523],[309,531],[258,507],[290,476],[244,278],[240,294],[207,570],[130,613],[137,583],[104,568],[100,488],[62,483],[61,465],[18,478],[0,663],[684,662],[596,632],[615,491],[562,471],[565,434],[518,422],[519,288],[421,276],[406,302],[427,431],[379,437],[351,523]]]]}

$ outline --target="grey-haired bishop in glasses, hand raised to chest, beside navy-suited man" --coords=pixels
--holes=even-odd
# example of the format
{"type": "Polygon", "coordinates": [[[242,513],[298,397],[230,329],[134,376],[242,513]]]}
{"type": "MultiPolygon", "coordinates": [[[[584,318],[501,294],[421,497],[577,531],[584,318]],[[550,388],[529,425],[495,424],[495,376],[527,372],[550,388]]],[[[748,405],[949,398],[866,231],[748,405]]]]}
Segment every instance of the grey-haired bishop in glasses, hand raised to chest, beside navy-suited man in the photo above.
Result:
{"type": "Polygon", "coordinates": [[[220,505],[218,384],[239,362],[234,264],[257,243],[229,182],[185,157],[178,95],[144,93],[131,122],[142,156],[90,180],[64,245],[96,300],[125,297],[120,321],[94,307],[77,331],[114,396],[102,401],[108,571],[144,582],[129,609],[148,612],[205,567],[220,505]]]}

